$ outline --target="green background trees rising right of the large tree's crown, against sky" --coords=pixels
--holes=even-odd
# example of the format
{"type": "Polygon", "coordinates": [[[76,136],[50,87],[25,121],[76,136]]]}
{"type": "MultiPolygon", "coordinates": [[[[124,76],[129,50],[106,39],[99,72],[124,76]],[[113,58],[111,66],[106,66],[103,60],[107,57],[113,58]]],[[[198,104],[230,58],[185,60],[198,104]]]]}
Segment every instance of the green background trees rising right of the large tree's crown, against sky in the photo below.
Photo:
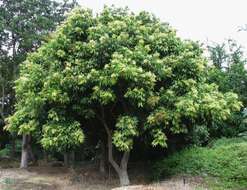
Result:
{"type": "Polygon", "coordinates": [[[243,47],[229,39],[222,44],[208,46],[214,67],[210,68],[209,80],[216,82],[223,92],[234,91],[247,106],[247,70],[243,47]]]}

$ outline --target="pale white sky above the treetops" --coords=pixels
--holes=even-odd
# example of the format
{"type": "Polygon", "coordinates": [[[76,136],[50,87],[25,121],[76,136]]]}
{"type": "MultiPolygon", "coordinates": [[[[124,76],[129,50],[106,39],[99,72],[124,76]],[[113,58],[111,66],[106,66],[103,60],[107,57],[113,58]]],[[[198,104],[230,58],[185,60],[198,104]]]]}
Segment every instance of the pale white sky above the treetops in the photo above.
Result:
{"type": "Polygon", "coordinates": [[[247,0],[79,0],[83,7],[102,10],[104,5],[146,10],[170,23],[182,38],[201,42],[222,42],[233,38],[247,48],[247,0]]]}

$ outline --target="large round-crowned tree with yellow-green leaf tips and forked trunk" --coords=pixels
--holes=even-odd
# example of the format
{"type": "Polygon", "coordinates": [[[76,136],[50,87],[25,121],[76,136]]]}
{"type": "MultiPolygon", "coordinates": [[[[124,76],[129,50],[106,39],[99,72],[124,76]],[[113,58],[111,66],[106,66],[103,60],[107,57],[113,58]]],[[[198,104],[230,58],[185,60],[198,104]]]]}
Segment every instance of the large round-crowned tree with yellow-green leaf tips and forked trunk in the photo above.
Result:
{"type": "Polygon", "coordinates": [[[170,134],[210,127],[240,108],[236,94],[205,82],[206,64],[197,43],[147,12],[105,7],[94,16],[77,9],[22,64],[7,129],[40,134],[45,148],[66,151],[94,128],[95,137],[107,139],[121,185],[128,185],[136,140],[148,136],[152,146],[166,147],[170,134]]]}

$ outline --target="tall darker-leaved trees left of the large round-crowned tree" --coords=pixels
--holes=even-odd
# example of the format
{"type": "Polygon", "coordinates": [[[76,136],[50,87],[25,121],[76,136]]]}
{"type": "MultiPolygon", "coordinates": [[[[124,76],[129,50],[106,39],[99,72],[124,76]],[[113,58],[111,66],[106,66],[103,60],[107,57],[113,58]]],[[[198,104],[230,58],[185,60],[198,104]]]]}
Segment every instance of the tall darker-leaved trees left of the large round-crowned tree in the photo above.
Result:
{"type": "MultiPolygon", "coordinates": [[[[75,1],[2,0],[0,2],[0,127],[13,112],[13,81],[27,53],[46,41],[75,1]]],[[[2,131],[2,130],[1,130],[2,131]]]]}

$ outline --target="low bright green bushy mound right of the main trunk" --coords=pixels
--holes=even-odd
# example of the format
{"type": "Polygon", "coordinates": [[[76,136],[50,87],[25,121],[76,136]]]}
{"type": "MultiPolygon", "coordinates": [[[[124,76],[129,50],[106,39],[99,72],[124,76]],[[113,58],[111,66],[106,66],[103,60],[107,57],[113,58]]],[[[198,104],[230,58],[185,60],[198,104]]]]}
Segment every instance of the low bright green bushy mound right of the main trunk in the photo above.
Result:
{"type": "Polygon", "coordinates": [[[156,163],[153,177],[199,175],[208,178],[211,188],[241,189],[247,187],[246,171],[246,138],[233,138],[217,140],[208,147],[192,147],[177,152],[156,163]]]}

